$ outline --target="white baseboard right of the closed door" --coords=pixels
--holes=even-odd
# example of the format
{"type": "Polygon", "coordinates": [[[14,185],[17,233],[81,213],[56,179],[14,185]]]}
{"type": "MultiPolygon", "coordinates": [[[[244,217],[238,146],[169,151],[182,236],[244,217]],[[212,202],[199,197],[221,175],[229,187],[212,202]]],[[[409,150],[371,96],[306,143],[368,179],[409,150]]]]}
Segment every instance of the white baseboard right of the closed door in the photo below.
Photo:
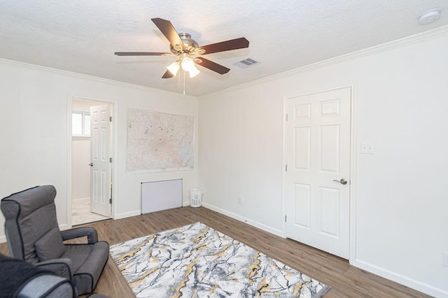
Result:
{"type": "Polygon", "coordinates": [[[426,283],[422,283],[421,281],[416,281],[415,279],[409,278],[407,276],[403,276],[393,271],[389,271],[387,269],[377,267],[368,262],[364,262],[362,260],[355,260],[355,262],[351,262],[351,265],[358,267],[360,269],[364,269],[365,271],[372,272],[373,274],[377,274],[381,277],[387,278],[391,281],[395,281],[395,283],[400,283],[401,285],[405,285],[414,290],[423,292],[433,297],[438,298],[448,298],[448,292],[442,290],[440,288],[435,288],[432,285],[428,285],[426,283]]]}

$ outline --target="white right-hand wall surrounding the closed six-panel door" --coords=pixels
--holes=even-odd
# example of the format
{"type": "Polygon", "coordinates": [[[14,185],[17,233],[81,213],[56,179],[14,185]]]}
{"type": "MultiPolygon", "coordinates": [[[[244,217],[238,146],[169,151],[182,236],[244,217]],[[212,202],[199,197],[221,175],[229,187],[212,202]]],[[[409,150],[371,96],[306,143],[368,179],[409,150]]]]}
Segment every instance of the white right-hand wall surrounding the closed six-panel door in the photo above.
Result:
{"type": "Polygon", "coordinates": [[[442,266],[442,251],[448,252],[447,53],[445,34],[204,96],[204,204],[282,233],[284,98],[352,84],[357,150],[351,263],[448,297],[448,267],[442,266]],[[361,142],[374,144],[375,154],[359,154],[361,142]]]}

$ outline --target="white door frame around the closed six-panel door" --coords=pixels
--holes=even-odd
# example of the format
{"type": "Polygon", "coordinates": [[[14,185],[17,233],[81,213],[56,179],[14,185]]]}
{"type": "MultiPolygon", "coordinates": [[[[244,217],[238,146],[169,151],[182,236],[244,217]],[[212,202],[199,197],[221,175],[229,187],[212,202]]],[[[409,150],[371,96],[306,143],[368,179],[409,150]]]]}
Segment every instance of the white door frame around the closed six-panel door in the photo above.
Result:
{"type": "Polygon", "coordinates": [[[349,263],[356,262],[356,156],[357,156],[357,140],[356,140],[356,119],[357,119],[357,98],[356,98],[356,83],[340,85],[337,87],[330,87],[326,89],[312,89],[311,91],[299,91],[297,94],[288,94],[283,96],[283,175],[282,175],[282,221],[281,230],[283,237],[286,238],[286,114],[288,107],[288,99],[299,96],[307,96],[311,94],[318,94],[326,91],[334,91],[338,89],[351,88],[350,101],[350,185],[349,185],[349,263]]]}

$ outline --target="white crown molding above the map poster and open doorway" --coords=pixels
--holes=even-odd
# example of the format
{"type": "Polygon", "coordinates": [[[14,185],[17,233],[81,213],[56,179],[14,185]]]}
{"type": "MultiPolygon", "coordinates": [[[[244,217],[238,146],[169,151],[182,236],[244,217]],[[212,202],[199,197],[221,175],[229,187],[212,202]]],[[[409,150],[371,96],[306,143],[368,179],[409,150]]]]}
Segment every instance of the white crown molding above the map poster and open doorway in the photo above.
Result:
{"type": "Polygon", "coordinates": [[[116,81],[116,80],[106,79],[104,77],[95,77],[94,75],[84,75],[83,73],[73,73],[73,72],[68,71],[68,70],[60,70],[60,69],[57,69],[57,68],[50,68],[50,67],[46,67],[46,66],[38,66],[38,65],[35,65],[35,64],[28,64],[28,63],[20,62],[20,61],[14,61],[14,60],[8,60],[8,59],[0,58],[0,64],[3,64],[5,66],[14,66],[14,67],[19,67],[19,68],[25,68],[25,69],[28,69],[28,70],[43,71],[45,73],[52,73],[52,74],[57,74],[57,75],[65,75],[67,77],[76,77],[76,78],[85,79],[85,80],[94,80],[94,81],[97,81],[97,82],[104,82],[104,83],[108,83],[108,84],[116,84],[116,85],[120,85],[120,86],[123,86],[123,87],[136,88],[136,89],[156,92],[156,93],[159,93],[159,94],[166,94],[166,95],[171,95],[171,96],[181,96],[183,98],[197,100],[196,96],[183,95],[183,94],[179,94],[179,93],[172,92],[172,91],[165,91],[165,90],[151,88],[151,87],[145,87],[145,86],[141,86],[141,85],[137,85],[137,84],[130,84],[130,83],[126,83],[126,82],[120,82],[120,81],[116,81]]]}

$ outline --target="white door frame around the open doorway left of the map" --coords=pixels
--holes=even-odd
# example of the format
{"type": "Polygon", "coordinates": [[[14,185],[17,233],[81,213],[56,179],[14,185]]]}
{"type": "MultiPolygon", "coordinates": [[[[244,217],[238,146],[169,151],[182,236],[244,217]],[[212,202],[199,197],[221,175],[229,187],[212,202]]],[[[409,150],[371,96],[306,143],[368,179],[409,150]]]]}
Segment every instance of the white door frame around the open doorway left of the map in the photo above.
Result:
{"type": "Polygon", "coordinates": [[[73,94],[69,94],[68,96],[68,112],[67,112],[67,122],[68,122],[68,131],[67,131],[67,141],[68,141],[68,154],[67,154],[67,193],[66,193],[66,202],[67,202],[67,228],[72,227],[72,221],[71,221],[71,204],[72,204],[72,198],[71,198],[71,179],[72,179],[72,165],[71,165],[71,157],[73,152],[71,151],[72,148],[72,137],[71,137],[71,114],[73,112],[73,100],[92,100],[97,101],[104,104],[111,104],[113,105],[113,121],[112,121],[112,147],[113,147],[113,163],[112,163],[112,205],[111,205],[111,218],[116,217],[116,212],[118,210],[118,162],[117,162],[117,156],[118,156],[118,100],[108,99],[104,100],[101,98],[92,98],[87,96],[76,96],[73,94]]]}

